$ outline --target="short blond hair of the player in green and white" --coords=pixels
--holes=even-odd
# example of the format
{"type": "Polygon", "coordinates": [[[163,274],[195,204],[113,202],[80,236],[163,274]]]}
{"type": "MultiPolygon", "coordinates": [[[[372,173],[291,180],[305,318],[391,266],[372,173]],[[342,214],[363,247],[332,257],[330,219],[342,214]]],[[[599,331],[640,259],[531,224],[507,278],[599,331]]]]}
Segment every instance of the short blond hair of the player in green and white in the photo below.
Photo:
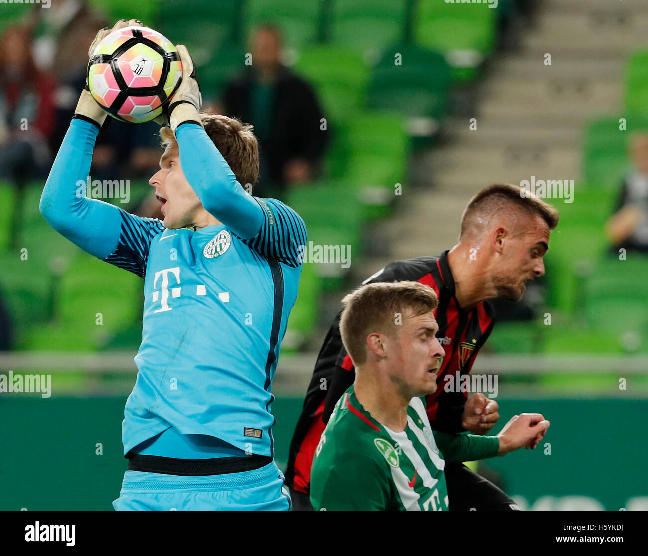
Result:
{"type": "Polygon", "coordinates": [[[396,315],[424,315],[437,308],[434,290],[419,282],[379,282],[359,287],[343,298],[340,334],[354,365],[367,361],[366,340],[369,334],[397,336],[396,315]]]}

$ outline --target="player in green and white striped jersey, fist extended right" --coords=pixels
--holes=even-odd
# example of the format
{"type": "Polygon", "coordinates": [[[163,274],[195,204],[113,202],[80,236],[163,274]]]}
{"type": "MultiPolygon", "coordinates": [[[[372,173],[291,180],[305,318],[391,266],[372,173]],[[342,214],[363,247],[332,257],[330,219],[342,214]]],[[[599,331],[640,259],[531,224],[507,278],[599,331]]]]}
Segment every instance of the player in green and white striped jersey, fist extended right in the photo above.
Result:
{"type": "Polygon", "coordinates": [[[445,461],[535,448],[549,427],[513,417],[496,436],[432,432],[424,398],[437,387],[444,350],[437,297],[418,282],[367,284],[347,295],[340,331],[356,379],[322,433],[311,469],[316,510],[447,510],[445,461]]]}

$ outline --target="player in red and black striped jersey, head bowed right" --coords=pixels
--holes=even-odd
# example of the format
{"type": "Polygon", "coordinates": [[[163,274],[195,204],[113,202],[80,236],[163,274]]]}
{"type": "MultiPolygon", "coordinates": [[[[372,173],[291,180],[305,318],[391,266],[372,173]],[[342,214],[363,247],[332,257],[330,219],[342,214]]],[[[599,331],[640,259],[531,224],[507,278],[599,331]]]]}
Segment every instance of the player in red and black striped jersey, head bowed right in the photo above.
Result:
{"type": "MultiPolygon", "coordinates": [[[[489,300],[519,301],[525,282],[544,274],[550,230],[558,223],[551,205],[520,187],[497,184],[474,195],[461,217],[459,242],[439,256],[394,261],[363,284],[413,280],[434,289],[439,306],[437,338],[445,350],[437,374],[439,387],[426,397],[432,428],[446,433],[485,434],[499,418],[499,405],[482,394],[443,388],[446,376],[468,374],[494,327],[489,300]]],[[[310,466],[319,437],[340,396],[353,384],[351,357],[336,317],[318,354],[303,410],[290,444],[286,484],[295,509],[309,509],[310,466]]],[[[448,465],[450,509],[517,509],[501,489],[461,464],[448,465]]]]}

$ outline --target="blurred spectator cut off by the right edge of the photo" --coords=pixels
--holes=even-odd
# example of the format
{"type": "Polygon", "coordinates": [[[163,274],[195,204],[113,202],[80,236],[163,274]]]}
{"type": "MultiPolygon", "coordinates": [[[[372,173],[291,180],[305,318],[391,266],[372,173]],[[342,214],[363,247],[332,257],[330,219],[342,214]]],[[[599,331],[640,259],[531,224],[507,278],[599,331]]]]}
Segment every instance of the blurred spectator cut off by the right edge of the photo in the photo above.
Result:
{"type": "Polygon", "coordinates": [[[631,136],[633,169],[623,178],[614,214],[605,224],[612,250],[648,253],[648,134],[631,136]]]}

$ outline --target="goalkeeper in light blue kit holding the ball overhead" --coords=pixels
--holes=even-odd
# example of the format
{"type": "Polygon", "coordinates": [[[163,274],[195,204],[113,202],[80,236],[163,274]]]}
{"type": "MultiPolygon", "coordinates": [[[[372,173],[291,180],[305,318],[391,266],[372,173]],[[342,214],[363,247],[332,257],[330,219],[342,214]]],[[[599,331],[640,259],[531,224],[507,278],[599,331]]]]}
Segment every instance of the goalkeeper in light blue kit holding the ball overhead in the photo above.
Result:
{"type": "MultiPolygon", "coordinates": [[[[126,25],[139,21],[112,30],[126,25]]],[[[183,80],[149,180],[164,221],[76,195],[106,118],[88,91],[40,209],[76,245],[144,279],[139,372],[122,423],[129,465],[115,509],[288,510],[270,387],[306,227],[283,203],[241,186],[257,178],[257,139],[237,120],[200,114],[191,57],[178,52],[183,80]]]]}

